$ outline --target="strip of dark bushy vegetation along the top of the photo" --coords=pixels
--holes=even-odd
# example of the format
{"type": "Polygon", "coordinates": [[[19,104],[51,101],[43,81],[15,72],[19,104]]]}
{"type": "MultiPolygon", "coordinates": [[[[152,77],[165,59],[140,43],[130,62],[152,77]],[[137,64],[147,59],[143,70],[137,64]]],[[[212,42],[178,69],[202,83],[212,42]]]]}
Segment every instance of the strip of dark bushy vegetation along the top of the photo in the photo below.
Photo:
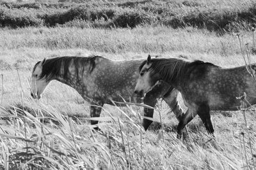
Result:
{"type": "MultiPolygon", "coordinates": [[[[93,27],[193,26],[210,31],[234,31],[253,27],[253,1],[128,1],[125,3],[1,3],[2,27],[56,26],[76,20],[93,27]],[[100,22],[100,24],[99,24],[100,22]]],[[[79,25],[74,25],[79,26],[79,25]]]]}

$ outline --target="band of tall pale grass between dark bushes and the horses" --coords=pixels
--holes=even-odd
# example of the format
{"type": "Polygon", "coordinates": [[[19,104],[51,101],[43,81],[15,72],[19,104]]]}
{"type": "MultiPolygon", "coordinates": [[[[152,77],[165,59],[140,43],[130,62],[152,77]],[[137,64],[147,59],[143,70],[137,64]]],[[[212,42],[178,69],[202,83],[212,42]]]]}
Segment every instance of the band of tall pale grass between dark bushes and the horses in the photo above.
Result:
{"type": "MultiPolygon", "coordinates": [[[[136,29],[93,28],[24,28],[0,29],[0,48],[47,48],[50,50],[82,48],[104,53],[205,53],[228,57],[240,53],[232,34],[218,36],[214,32],[192,27],[172,29],[164,26],[136,29]]],[[[251,41],[244,31],[244,41],[251,41]]]]}

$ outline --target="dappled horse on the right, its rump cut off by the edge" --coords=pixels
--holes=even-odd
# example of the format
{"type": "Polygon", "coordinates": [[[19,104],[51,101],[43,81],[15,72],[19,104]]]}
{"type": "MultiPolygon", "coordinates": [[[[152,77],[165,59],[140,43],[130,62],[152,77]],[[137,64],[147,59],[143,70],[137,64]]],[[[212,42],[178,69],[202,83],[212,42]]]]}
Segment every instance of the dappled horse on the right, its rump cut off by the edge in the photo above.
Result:
{"type": "Polygon", "coordinates": [[[207,131],[213,133],[210,110],[239,110],[241,100],[237,97],[244,93],[247,106],[256,104],[255,71],[256,64],[225,69],[200,60],[151,59],[148,55],[141,63],[135,92],[143,95],[157,81],[166,81],[179,90],[188,107],[177,126],[178,137],[196,114],[207,131]]]}

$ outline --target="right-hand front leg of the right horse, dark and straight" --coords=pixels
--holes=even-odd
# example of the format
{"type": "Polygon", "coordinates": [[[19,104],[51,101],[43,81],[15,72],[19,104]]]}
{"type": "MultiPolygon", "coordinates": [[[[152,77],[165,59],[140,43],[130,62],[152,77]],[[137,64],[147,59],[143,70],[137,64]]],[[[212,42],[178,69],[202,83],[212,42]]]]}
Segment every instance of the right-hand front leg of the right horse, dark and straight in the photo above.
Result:
{"type": "Polygon", "coordinates": [[[198,116],[203,121],[206,130],[210,133],[214,133],[212,121],[211,121],[211,115],[210,115],[210,108],[208,104],[201,104],[198,108],[198,116]]]}

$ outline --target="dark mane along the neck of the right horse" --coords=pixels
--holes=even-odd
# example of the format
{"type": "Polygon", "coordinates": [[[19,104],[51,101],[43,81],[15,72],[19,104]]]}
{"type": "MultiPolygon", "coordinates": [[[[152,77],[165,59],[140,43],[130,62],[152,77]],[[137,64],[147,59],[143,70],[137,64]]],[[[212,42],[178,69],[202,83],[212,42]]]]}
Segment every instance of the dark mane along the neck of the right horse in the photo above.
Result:
{"type": "MultiPolygon", "coordinates": [[[[139,71],[141,71],[142,67],[147,63],[147,60],[144,60],[140,67],[139,71]]],[[[150,63],[152,64],[149,69],[153,69],[152,74],[159,73],[164,81],[177,81],[180,78],[184,78],[194,69],[200,69],[201,73],[204,73],[207,69],[207,66],[215,66],[211,62],[204,62],[202,60],[194,60],[188,61],[184,59],[151,59],[150,63]]]]}

